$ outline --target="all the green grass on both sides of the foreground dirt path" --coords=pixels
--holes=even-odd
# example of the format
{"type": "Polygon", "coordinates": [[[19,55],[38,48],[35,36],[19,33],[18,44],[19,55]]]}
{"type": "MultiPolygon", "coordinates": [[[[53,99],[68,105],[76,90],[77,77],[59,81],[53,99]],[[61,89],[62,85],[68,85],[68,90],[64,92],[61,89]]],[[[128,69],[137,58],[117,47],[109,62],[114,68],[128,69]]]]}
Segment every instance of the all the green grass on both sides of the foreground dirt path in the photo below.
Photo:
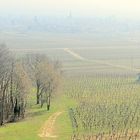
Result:
{"type": "MultiPolygon", "coordinates": [[[[34,100],[34,99],[33,99],[34,100]]],[[[27,117],[19,122],[10,123],[0,128],[0,140],[42,140],[38,136],[39,130],[44,122],[57,111],[63,111],[63,115],[56,120],[56,135],[60,140],[69,139],[72,134],[71,122],[67,114],[69,106],[74,106],[73,100],[66,96],[60,96],[53,100],[51,110],[48,112],[46,106],[33,105],[27,112],[27,117]]],[[[59,140],[57,138],[57,140],[59,140]]]]}

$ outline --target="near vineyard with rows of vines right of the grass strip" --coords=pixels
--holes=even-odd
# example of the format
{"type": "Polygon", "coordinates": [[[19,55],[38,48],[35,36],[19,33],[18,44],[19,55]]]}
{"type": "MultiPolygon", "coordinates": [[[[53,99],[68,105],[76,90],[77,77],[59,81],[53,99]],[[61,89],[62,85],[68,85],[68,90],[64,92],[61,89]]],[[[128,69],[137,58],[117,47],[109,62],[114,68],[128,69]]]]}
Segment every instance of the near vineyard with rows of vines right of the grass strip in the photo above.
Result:
{"type": "Polygon", "coordinates": [[[94,74],[68,79],[65,94],[78,105],[69,109],[72,140],[140,139],[140,85],[136,77],[94,74]]]}

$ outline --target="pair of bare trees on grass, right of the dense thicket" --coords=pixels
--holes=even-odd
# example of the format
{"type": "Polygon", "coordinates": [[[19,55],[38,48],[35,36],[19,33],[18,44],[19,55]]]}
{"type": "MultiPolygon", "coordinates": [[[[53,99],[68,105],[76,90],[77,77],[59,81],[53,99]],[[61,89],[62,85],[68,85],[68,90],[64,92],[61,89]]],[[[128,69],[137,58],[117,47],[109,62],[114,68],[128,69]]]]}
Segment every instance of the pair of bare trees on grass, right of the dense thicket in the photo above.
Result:
{"type": "Polygon", "coordinates": [[[26,57],[28,72],[36,86],[36,103],[47,103],[50,109],[51,94],[59,85],[61,65],[58,61],[50,61],[44,54],[30,54],[26,57]]]}

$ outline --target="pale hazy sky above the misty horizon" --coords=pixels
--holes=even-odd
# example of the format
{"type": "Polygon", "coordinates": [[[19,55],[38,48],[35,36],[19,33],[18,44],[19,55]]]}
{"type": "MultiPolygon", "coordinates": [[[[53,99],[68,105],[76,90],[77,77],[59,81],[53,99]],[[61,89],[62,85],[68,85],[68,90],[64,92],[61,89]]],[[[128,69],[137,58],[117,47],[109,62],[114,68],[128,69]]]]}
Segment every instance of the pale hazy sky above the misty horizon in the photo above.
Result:
{"type": "Polygon", "coordinates": [[[140,0],[0,0],[0,15],[140,17],[140,0]]]}

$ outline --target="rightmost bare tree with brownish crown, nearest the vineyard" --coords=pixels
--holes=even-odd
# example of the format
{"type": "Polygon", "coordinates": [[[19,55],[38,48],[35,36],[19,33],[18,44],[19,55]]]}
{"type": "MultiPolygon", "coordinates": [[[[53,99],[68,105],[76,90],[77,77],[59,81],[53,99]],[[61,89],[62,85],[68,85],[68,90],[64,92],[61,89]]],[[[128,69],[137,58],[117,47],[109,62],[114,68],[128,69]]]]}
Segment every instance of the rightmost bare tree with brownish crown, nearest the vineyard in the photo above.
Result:
{"type": "Polygon", "coordinates": [[[53,62],[42,62],[39,64],[38,78],[40,81],[40,101],[41,107],[47,103],[47,109],[50,109],[52,93],[56,91],[60,81],[60,72],[55,69],[53,62]]]}

